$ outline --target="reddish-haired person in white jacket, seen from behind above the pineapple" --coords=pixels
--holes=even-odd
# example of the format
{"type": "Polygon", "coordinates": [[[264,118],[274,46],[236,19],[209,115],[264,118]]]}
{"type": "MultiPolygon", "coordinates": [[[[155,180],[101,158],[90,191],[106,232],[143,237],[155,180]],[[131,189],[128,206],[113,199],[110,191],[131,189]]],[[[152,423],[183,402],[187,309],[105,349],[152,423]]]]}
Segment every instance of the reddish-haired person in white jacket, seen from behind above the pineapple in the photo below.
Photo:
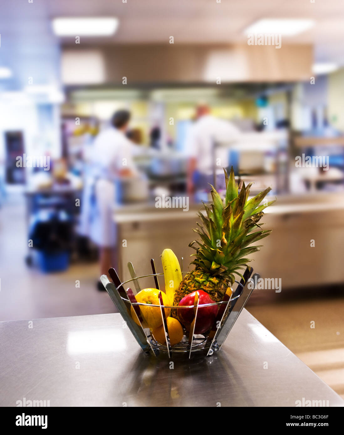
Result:
{"type": "Polygon", "coordinates": [[[223,167],[227,167],[228,148],[218,148],[214,154],[216,142],[229,143],[240,135],[240,130],[231,122],[216,118],[210,114],[209,106],[202,104],[196,108],[196,122],[186,136],[185,148],[189,156],[187,191],[208,190],[213,184],[214,167],[218,167],[219,181],[223,177],[223,167]],[[221,175],[222,174],[222,175],[221,175]]]}

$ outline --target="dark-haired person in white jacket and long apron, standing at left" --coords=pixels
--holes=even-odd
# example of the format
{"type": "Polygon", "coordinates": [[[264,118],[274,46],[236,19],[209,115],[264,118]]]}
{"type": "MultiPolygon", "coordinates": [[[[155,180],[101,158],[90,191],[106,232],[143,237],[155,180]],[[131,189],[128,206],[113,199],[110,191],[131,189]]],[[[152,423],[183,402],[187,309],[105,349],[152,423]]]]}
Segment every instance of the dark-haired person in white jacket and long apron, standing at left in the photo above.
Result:
{"type": "MultiPolygon", "coordinates": [[[[91,173],[86,177],[82,208],[81,234],[88,235],[99,247],[100,273],[117,268],[116,225],[113,207],[118,179],[137,175],[133,162],[135,145],[125,136],[130,113],[118,110],[111,126],[101,131],[91,151],[91,173]]],[[[98,283],[98,289],[104,290],[98,283]]]]}

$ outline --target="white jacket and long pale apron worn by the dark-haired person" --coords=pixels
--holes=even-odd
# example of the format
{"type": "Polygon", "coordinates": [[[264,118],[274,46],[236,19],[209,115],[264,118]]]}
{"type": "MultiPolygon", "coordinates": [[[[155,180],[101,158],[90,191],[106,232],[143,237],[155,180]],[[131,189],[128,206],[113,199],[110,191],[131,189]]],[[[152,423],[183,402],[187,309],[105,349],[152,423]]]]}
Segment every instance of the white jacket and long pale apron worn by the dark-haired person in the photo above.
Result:
{"type": "Polygon", "coordinates": [[[101,247],[116,244],[113,207],[117,197],[118,172],[128,168],[137,174],[133,155],[137,146],[114,127],[101,131],[89,153],[90,173],[86,177],[81,204],[79,232],[101,247]]]}

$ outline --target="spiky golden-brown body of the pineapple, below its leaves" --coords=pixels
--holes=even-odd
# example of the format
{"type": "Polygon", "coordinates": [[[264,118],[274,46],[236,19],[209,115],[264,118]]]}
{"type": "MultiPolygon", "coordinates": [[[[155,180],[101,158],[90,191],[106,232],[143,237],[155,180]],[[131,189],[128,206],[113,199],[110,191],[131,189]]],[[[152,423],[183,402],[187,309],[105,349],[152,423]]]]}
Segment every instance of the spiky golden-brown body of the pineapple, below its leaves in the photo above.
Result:
{"type": "Polygon", "coordinates": [[[205,291],[214,302],[222,301],[227,288],[231,287],[232,284],[228,276],[213,276],[196,267],[193,271],[185,274],[178,290],[175,292],[173,305],[179,305],[184,296],[196,290],[205,291]]]}

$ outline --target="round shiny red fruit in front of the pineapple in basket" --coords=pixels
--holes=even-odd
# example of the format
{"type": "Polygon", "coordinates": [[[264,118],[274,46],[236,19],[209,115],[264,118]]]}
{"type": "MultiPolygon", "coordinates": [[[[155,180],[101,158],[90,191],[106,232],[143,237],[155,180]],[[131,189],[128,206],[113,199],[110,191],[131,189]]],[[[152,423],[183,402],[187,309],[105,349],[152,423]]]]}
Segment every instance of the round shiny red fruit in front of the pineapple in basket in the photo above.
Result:
{"type": "MultiPolygon", "coordinates": [[[[202,334],[202,332],[208,331],[215,321],[217,311],[219,307],[217,305],[211,305],[210,307],[201,307],[203,304],[213,304],[214,301],[210,299],[209,294],[203,290],[198,290],[199,293],[199,306],[197,311],[195,334],[202,334]]],[[[196,291],[187,294],[179,302],[179,307],[196,305],[195,302],[196,291]]],[[[193,308],[178,308],[179,321],[190,331],[191,323],[195,318],[195,311],[193,308]]]]}

